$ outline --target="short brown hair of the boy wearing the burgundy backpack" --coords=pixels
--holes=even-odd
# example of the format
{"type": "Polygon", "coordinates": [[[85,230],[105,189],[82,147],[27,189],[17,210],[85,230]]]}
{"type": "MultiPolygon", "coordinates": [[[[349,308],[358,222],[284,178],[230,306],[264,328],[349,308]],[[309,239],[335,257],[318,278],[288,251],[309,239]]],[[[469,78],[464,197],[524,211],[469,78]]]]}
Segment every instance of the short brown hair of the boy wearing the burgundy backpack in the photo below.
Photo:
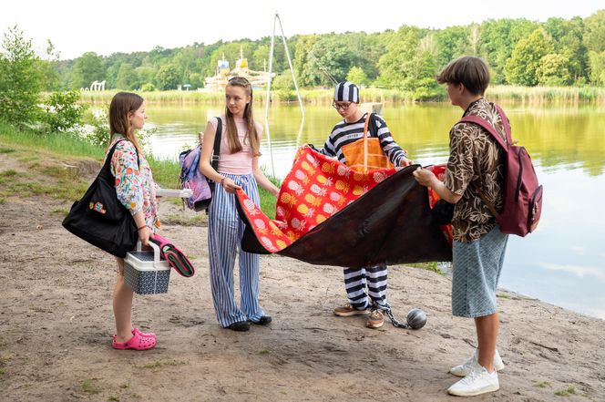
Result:
{"type": "Polygon", "coordinates": [[[489,84],[489,69],[479,57],[458,57],[436,75],[436,80],[439,84],[462,84],[471,94],[483,95],[489,84]]]}

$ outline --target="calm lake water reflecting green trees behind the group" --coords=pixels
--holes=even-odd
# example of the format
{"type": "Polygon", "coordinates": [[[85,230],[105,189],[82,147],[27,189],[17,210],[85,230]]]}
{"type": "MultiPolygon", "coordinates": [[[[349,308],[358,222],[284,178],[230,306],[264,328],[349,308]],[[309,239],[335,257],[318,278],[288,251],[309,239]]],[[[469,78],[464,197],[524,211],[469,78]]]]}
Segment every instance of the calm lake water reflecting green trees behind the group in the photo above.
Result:
{"type": "MultiPolygon", "coordinates": [[[[264,107],[255,105],[264,125],[264,107]]],[[[551,304],[605,319],[605,106],[505,105],[513,138],[531,155],[544,185],[538,230],[511,236],[500,286],[551,304]],[[594,202],[598,202],[595,206],[594,202]],[[594,208],[592,208],[594,207],[594,208]]],[[[219,106],[149,105],[151,151],[176,160],[194,144],[219,106]]],[[[290,170],[295,150],[316,147],[340,118],[329,106],[305,106],[301,129],[297,105],[270,108],[271,147],[262,142],[261,165],[279,178],[290,170]]],[[[448,131],[462,110],[448,104],[385,105],[396,141],[423,165],[446,161],[448,131]]]]}

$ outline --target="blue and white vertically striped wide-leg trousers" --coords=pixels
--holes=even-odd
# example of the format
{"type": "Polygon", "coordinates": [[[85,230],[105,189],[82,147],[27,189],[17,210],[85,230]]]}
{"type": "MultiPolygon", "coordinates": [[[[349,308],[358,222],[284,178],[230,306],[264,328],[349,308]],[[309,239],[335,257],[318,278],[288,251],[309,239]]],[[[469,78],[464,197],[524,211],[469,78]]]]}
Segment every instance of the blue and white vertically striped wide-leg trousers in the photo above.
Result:
{"type": "MultiPolygon", "coordinates": [[[[260,203],[253,175],[222,175],[241,186],[254,203],[260,203]]],[[[264,315],[259,304],[259,255],[240,249],[245,225],[235,207],[235,195],[217,184],[212,197],[208,216],[208,248],[210,287],[217,319],[223,327],[238,321],[256,322],[264,315]],[[236,255],[240,264],[240,307],[235,301],[233,284],[236,255]]]]}

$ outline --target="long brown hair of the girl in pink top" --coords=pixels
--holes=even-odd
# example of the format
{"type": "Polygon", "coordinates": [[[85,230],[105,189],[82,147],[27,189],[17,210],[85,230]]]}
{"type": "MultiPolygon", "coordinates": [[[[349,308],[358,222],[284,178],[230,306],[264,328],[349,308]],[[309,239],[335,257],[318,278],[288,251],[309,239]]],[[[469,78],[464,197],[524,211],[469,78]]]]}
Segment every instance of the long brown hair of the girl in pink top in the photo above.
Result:
{"type": "MultiPolygon", "coordinates": [[[[246,92],[246,95],[250,97],[250,102],[246,104],[246,108],[243,112],[243,117],[246,119],[246,124],[248,126],[248,129],[246,130],[246,138],[244,140],[247,139],[250,142],[252,156],[261,156],[261,143],[258,133],[256,132],[256,126],[254,124],[254,117],[252,114],[252,103],[254,101],[252,98],[252,86],[244,77],[232,77],[227,83],[227,86],[243,88],[246,92]]],[[[225,118],[227,119],[227,142],[229,144],[229,149],[231,150],[231,153],[239,152],[241,151],[241,142],[238,138],[238,129],[235,126],[233,114],[226,105],[225,118]]]]}

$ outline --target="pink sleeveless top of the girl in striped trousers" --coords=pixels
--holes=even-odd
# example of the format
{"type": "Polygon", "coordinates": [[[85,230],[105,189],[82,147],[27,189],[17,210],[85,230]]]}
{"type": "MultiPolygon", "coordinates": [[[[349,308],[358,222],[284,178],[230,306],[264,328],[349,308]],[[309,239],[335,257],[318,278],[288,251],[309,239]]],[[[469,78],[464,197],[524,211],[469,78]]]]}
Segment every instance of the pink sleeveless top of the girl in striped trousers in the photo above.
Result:
{"type": "MultiPolygon", "coordinates": [[[[219,159],[219,173],[230,173],[230,174],[251,174],[252,172],[252,153],[250,144],[244,141],[246,131],[248,131],[246,119],[235,118],[235,126],[238,129],[238,138],[241,142],[241,151],[231,153],[229,149],[229,141],[227,140],[228,129],[227,119],[222,116],[222,136],[220,138],[220,159],[219,159]]],[[[217,119],[210,119],[210,124],[216,130],[217,119]]],[[[255,122],[256,132],[259,138],[262,137],[262,126],[255,122]]]]}

